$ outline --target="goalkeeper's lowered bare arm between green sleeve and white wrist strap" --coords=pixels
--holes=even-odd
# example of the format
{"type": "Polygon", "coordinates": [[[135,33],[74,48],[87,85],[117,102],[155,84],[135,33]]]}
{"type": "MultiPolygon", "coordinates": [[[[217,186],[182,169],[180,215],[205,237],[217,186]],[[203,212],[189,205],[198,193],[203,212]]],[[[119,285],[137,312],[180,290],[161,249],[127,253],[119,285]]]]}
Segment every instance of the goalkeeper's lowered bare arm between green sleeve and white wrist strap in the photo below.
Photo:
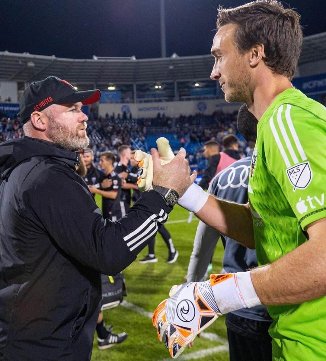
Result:
{"type": "Polygon", "coordinates": [[[296,304],[326,295],[326,218],[306,230],[307,242],[272,264],[251,271],[262,304],[296,304]]]}

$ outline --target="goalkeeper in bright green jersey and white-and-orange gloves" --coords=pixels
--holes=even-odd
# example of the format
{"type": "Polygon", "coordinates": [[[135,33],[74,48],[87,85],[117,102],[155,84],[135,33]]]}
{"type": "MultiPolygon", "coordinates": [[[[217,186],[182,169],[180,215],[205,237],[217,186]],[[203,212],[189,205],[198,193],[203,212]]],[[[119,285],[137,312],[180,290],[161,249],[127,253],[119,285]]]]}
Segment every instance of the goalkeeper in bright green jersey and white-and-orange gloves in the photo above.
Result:
{"type": "MultiPolygon", "coordinates": [[[[255,248],[261,267],[172,288],[153,314],[172,357],[219,314],[263,304],[274,319],[274,361],[326,360],[326,109],[291,84],[299,19],[277,1],[219,9],[211,79],[226,101],[246,103],[259,119],[249,203],[216,199],[195,184],[178,203],[255,248]]],[[[152,149],[153,184],[166,167],[159,156],[152,149]]]]}

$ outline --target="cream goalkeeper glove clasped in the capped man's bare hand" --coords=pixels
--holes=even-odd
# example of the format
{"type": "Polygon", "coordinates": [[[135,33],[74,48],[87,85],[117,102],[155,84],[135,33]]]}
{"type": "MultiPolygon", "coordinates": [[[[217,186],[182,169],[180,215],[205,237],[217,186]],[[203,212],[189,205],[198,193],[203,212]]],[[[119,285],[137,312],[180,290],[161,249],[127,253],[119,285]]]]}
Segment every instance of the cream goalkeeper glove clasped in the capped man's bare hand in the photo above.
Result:
{"type": "MultiPolygon", "coordinates": [[[[160,153],[161,164],[167,164],[174,158],[174,154],[169,145],[169,140],[161,137],[156,140],[158,153],[160,153]]],[[[153,189],[153,160],[150,154],[137,150],[134,159],[138,162],[139,171],[137,173],[137,186],[142,192],[153,189]]]]}

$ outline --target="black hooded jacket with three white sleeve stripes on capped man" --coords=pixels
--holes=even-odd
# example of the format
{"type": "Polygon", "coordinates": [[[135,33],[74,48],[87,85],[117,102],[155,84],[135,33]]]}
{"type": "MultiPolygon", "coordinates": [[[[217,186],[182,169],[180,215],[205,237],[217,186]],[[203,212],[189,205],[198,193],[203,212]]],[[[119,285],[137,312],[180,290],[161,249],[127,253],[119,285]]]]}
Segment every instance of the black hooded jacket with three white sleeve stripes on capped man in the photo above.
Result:
{"type": "Polygon", "coordinates": [[[90,360],[100,273],[131,264],[171,210],[150,191],[104,220],[77,157],[28,137],[0,145],[1,361],[90,360]]]}

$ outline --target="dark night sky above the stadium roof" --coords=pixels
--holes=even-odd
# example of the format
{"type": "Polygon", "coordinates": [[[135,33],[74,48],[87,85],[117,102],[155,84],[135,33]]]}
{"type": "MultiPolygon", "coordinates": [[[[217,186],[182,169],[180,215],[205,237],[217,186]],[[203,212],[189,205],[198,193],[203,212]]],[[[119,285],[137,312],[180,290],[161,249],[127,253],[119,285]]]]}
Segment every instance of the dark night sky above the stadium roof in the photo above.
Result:
{"type": "MultiPolygon", "coordinates": [[[[208,54],[219,5],[245,0],[165,0],[166,55],[208,54]]],[[[284,2],[285,3],[285,2],[284,2]]],[[[292,0],[304,35],[326,31],[325,0],[292,0]]],[[[161,56],[159,0],[0,2],[0,51],[64,58],[161,56]]]]}

